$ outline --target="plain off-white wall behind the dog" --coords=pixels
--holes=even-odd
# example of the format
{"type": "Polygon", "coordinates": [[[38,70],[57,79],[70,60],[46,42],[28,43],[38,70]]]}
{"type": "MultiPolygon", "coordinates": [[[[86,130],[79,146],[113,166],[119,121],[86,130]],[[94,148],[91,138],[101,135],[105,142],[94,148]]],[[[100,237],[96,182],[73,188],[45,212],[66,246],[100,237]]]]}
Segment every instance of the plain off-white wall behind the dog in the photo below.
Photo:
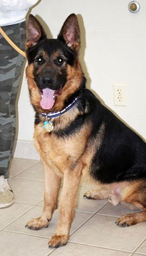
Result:
{"type": "MultiPolygon", "coordinates": [[[[129,12],[129,2],[41,0],[31,13],[41,17],[39,20],[48,25],[55,38],[66,17],[73,12],[78,15],[80,59],[87,86],[146,139],[146,0],[139,0],[141,9],[137,14],[129,12]],[[126,84],[127,106],[114,105],[113,83],[126,84]]],[[[19,97],[18,140],[33,141],[33,121],[24,75],[19,97]]]]}

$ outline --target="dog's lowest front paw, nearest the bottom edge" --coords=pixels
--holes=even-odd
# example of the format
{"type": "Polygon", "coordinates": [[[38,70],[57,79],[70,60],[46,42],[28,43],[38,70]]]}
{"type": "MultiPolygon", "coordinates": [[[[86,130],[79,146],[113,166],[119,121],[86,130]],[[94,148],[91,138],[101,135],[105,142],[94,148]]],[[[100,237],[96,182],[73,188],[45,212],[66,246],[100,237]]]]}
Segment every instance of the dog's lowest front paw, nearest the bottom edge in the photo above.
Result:
{"type": "Polygon", "coordinates": [[[48,246],[51,248],[57,248],[59,246],[65,246],[67,241],[69,239],[69,236],[57,236],[54,235],[52,236],[52,238],[50,239],[50,241],[48,242],[48,246]]]}

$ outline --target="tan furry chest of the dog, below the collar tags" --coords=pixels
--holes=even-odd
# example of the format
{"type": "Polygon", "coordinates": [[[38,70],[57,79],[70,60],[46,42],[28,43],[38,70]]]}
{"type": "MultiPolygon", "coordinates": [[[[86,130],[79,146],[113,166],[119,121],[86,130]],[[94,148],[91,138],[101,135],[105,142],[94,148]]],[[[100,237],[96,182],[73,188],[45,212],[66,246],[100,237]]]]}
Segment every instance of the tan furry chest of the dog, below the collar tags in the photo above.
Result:
{"type": "Polygon", "coordinates": [[[66,138],[48,133],[42,125],[36,125],[34,132],[34,144],[43,161],[63,172],[70,168],[83,155],[86,147],[80,134],[66,138]]]}

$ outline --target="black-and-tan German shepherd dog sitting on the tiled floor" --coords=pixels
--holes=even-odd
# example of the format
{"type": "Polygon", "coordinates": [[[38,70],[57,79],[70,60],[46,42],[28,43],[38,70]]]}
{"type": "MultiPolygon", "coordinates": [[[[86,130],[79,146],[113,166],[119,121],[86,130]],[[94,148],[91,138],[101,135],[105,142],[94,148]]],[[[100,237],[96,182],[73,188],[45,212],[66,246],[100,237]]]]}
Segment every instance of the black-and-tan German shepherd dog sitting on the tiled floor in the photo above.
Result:
{"type": "Polygon", "coordinates": [[[85,197],[132,204],[141,211],[120,217],[118,226],[146,221],[146,143],[85,88],[79,61],[80,30],[68,16],[57,39],[47,39],[29,15],[26,70],[35,115],[34,144],[45,169],[42,215],[27,227],[47,227],[57,207],[62,176],[59,222],[50,247],[66,245],[74,218],[75,198],[84,174],[97,188],[85,197]]]}

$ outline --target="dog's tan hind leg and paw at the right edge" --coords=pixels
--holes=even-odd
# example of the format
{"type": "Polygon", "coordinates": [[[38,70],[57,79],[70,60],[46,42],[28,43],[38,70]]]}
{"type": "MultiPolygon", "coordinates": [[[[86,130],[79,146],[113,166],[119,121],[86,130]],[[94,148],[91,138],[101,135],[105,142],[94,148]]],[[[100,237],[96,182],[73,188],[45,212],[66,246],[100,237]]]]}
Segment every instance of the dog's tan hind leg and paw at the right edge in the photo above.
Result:
{"type": "Polygon", "coordinates": [[[124,215],[116,221],[116,224],[126,227],[146,221],[146,180],[132,182],[130,193],[128,191],[127,196],[124,195],[124,197],[123,201],[133,204],[142,211],[124,215]]]}

